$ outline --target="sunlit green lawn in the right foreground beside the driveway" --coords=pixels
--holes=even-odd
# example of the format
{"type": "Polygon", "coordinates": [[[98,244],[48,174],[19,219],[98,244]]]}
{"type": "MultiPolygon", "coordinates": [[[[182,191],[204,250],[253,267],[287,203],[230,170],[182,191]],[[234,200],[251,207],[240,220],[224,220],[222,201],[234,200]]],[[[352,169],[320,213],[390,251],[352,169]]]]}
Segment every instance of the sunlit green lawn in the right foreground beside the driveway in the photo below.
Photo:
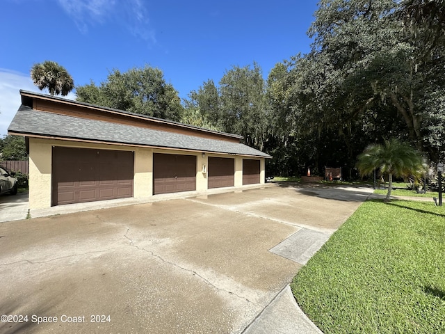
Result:
{"type": "Polygon", "coordinates": [[[367,201],[291,284],[324,333],[445,333],[445,209],[367,201]]]}

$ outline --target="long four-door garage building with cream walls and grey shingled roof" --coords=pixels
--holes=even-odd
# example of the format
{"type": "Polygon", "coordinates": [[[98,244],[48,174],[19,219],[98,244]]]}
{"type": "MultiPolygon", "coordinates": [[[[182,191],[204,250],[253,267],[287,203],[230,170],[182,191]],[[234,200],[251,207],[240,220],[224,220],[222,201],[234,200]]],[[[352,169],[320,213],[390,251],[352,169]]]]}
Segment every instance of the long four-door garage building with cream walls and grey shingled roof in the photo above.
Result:
{"type": "Polygon", "coordinates": [[[242,137],[20,90],[29,207],[262,184],[270,155],[242,137]]]}

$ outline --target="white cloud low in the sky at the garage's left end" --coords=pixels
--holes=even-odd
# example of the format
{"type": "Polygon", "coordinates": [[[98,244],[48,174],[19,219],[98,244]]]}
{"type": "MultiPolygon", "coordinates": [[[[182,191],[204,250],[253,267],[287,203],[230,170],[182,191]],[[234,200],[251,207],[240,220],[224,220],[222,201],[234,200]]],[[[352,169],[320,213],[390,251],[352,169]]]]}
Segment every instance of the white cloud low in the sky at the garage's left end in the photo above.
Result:
{"type": "MultiPolygon", "coordinates": [[[[0,136],[8,134],[8,127],[22,103],[19,90],[47,94],[34,86],[29,74],[0,68],[0,136]]],[[[76,95],[70,93],[65,98],[74,100],[76,95]]]]}

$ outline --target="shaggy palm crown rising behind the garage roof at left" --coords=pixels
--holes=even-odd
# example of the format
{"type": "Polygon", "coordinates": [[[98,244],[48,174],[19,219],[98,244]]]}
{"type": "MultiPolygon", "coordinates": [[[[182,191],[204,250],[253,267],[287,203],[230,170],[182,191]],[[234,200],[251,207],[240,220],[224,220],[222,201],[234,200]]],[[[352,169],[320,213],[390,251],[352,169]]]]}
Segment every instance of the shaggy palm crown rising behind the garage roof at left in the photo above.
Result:
{"type": "Polygon", "coordinates": [[[74,81],[65,67],[55,61],[44,61],[31,68],[31,79],[40,90],[48,88],[49,94],[68,95],[74,88],[74,81]]]}

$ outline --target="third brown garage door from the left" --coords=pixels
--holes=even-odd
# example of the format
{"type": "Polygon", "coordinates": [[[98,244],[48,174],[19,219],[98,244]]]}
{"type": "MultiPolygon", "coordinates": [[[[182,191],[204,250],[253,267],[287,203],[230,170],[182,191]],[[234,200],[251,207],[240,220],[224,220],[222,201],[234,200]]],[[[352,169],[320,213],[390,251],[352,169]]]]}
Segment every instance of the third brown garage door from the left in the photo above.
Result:
{"type": "Polygon", "coordinates": [[[209,189],[235,184],[235,159],[209,157],[209,189]]]}

